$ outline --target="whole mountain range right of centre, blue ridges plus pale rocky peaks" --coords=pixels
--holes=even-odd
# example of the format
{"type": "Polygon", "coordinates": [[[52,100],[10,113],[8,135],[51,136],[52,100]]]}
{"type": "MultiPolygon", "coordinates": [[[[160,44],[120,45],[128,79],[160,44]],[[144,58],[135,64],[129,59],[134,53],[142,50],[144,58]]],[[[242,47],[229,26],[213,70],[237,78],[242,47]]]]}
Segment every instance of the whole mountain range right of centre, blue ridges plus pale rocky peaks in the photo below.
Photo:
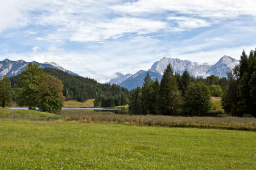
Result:
{"type": "MultiPolygon", "coordinates": [[[[158,77],[158,80],[162,79],[162,75],[164,70],[166,69],[168,64],[171,64],[172,68],[174,69],[174,72],[182,74],[185,70],[188,71],[188,73],[192,76],[201,76],[203,78],[206,78],[210,75],[227,77],[227,72],[230,69],[233,69],[236,65],[238,65],[239,61],[237,59],[234,59],[229,56],[223,56],[220,58],[220,60],[215,63],[214,65],[209,65],[208,63],[203,63],[203,65],[200,65],[197,62],[191,62],[188,60],[181,60],[179,58],[162,58],[160,61],[156,61],[148,71],[140,70],[134,75],[129,76],[129,78],[124,79],[121,81],[119,79],[119,75],[123,75],[122,73],[118,73],[118,77],[115,79],[119,79],[120,83],[118,86],[125,87],[128,90],[132,90],[133,88],[136,88],[137,86],[142,86],[143,79],[146,76],[147,73],[150,74],[151,77],[158,77]]],[[[128,74],[126,74],[128,75],[128,74]]],[[[129,74],[130,75],[130,74],[129,74]]],[[[123,76],[122,76],[123,78],[123,76]]],[[[154,80],[154,78],[152,78],[154,80]]],[[[114,79],[110,80],[112,83],[114,79]]],[[[117,82],[117,81],[115,81],[117,82]]],[[[109,82],[110,83],[110,82],[109,82]]]]}

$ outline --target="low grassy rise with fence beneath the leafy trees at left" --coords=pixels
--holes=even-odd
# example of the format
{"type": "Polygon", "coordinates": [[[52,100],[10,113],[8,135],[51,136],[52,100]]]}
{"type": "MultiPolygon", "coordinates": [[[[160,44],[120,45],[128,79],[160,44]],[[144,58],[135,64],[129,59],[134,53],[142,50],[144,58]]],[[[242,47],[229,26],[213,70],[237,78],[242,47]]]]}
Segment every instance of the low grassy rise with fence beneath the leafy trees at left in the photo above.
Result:
{"type": "Polygon", "coordinates": [[[6,109],[0,108],[0,114],[32,114],[33,116],[41,116],[41,115],[51,115],[55,116],[56,114],[46,113],[46,112],[37,112],[33,110],[24,110],[24,109],[6,109]]]}

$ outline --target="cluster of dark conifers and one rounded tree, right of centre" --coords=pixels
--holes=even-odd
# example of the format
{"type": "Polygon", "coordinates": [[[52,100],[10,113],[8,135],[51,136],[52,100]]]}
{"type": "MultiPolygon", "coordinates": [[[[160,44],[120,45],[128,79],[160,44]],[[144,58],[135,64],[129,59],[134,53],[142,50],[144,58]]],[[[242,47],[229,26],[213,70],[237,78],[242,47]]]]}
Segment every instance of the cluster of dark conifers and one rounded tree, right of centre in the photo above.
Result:
{"type": "Polygon", "coordinates": [[[182,75],[174,74],[169,64],[159,84],[149,74],[142,88],[135,88],[130,97],[130,108],[150,114],[174,114],[183,108],[186,113],[206,113],[211,107],[210,90],[185,70],[182,75]]]}

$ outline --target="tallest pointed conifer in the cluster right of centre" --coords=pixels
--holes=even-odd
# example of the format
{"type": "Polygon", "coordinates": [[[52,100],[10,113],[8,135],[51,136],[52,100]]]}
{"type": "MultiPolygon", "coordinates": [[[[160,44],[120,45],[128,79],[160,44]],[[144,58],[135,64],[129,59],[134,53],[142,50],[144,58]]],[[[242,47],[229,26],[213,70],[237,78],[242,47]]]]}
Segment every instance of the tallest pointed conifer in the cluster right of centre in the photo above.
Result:
{"type": "Polygon", "coordinates": [[[179,108],[181,96],[177,87],[174,70],[170,63],[164,70],[160,83],[159,93],[156,101],[156,112],[158,114],[173,114],[179,108]]]}

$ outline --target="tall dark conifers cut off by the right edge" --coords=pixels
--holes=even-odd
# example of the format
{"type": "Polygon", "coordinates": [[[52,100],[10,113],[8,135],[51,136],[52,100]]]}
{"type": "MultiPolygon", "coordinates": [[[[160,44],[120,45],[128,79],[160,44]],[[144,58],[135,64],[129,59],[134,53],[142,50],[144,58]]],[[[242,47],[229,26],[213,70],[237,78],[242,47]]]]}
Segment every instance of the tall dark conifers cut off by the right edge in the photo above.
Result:
{"type": "Polygon", "coordinates": [[[226,113],[256,116],[256,49],[243,50],[240,64],[228,72],[228,86],[221,100],[226,113]]]}

